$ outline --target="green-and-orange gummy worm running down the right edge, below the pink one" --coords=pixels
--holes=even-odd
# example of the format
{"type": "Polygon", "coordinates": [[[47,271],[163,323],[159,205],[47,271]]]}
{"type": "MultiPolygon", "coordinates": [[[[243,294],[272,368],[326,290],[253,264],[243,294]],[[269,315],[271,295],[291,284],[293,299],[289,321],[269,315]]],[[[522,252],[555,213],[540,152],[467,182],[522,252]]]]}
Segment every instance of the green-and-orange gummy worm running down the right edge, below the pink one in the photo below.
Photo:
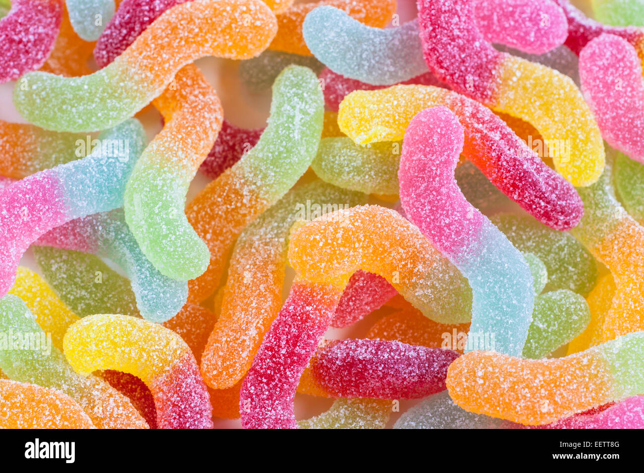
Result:
{"type": "Polygon", "coordinates": [[[579,227],[571,232],[615,280],[612,306],[601,328],[604,341],[644,329],[644,228],[614,196],[613,156],[614,151],[607,148],[607,169],[600,180],[578,189],[585,212],[579,227]]]}

